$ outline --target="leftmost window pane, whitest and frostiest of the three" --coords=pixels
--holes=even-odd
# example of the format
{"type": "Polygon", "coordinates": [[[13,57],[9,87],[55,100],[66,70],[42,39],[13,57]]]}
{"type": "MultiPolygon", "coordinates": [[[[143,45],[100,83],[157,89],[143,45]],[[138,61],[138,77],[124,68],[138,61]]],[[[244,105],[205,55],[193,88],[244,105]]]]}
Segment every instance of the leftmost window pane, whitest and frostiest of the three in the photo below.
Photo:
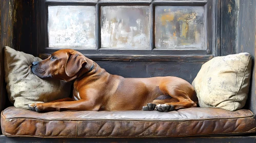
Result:
{"type": "Polygon", "coordinates": [[[49,47],[95,48],[95,7],[49,6],[49,47]]]}

